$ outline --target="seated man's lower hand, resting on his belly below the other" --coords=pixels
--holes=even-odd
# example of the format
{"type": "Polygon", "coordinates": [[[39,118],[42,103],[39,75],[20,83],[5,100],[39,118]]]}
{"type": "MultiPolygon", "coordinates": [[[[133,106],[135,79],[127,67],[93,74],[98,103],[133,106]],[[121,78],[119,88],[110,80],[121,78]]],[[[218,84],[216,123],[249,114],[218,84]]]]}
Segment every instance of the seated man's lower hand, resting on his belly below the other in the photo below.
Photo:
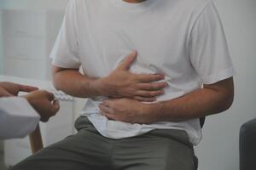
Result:
{"type": "Polygon", "coordinates": [[[154,117],[148,114],[147,104],[136,99],[105,99],[99,108],[102,115],[110,120],[129,123],[154,122],[154,117]]]}

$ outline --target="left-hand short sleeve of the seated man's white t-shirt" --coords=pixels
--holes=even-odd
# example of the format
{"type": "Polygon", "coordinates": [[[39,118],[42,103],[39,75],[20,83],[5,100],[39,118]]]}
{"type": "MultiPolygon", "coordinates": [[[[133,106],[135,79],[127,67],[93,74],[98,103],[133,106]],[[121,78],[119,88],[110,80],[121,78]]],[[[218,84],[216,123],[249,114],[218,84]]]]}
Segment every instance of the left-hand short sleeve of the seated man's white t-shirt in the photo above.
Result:
{"type": "Polygon", "coordinates": [[[61,30],[51,51],[52,64],[63,68],[79,68],[79,41],[75,0],[69,1],[61,30]]]}

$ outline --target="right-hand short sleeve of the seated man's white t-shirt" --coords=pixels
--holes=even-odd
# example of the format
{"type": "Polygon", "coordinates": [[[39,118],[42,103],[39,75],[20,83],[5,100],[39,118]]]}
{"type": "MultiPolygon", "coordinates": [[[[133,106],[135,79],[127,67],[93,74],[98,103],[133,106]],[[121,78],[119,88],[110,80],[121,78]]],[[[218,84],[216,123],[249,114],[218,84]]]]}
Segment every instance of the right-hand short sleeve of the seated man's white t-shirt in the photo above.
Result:
{"type": "Polygon", "coordinates": [[[204,84],[235,75],[222,22],[212,1],[201,11],[191,31],[189,57],[204,84]]]}

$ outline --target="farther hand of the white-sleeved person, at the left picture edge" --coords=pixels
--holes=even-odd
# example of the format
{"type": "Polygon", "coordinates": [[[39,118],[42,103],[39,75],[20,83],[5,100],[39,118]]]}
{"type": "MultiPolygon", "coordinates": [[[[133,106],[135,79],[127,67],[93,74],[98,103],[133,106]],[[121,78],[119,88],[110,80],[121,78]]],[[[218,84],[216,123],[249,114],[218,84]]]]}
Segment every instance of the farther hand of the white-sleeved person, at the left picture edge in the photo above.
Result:
{"type": "Polygon", "coordinates": [[[38,90],[38,88],[13,82],[0,82],[0,97],[17,96],[19,92],[32,92],[35,90],[38,90]]]}

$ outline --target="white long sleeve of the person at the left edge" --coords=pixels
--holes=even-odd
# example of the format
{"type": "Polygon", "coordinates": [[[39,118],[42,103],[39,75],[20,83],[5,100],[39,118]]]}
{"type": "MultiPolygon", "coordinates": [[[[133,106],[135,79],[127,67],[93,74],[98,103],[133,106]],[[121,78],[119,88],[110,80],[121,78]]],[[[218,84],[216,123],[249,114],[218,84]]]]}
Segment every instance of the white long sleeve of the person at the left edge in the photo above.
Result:
{"type": "Polygon", "coordinates": [[[39,120],[40,116],[26,99],[0,99],[0,139],[25,137],[35,130],[39,120]]]}

